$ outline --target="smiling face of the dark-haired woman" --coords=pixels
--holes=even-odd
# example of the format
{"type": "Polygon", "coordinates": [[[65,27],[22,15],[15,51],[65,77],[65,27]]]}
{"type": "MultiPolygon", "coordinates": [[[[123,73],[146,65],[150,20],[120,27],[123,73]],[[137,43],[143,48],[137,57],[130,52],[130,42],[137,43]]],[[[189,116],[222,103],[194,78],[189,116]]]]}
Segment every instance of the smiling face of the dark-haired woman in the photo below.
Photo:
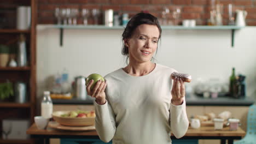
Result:
{"type": "Polygon", "coordinates": [[[158,48],[159,29],[155,25],[139,25],[127,40],[130,61],[150,62],[158,48]]]}

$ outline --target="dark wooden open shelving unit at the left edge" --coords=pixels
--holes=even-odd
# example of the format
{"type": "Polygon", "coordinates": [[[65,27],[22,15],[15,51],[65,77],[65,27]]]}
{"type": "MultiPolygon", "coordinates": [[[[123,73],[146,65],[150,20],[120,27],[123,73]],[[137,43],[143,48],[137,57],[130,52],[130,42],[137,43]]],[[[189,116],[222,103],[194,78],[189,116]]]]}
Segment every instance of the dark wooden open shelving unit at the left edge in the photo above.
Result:
{"type": "MultiPolygon", "coordinates": [[[[13,84],[22,81],[26,83],[26,103],[15,103],[14,98],[9,101],[0,101],[0,130],[2,131],[3,119],[26,119],[30,121],[30,125],[34,123],[36,113],[36,23],[37,23],[37,0],[24,1],[8,1],[1,3],[4,6],[1,11],[11,11],[16,13],[17,6],[31,7],[31,23],[27,30],[15,29],[8,27],[0,29],[1,44],[5,44],[4,40],[17,39],[21,34],[26,37],[27,66],[26,67],[0,67],[0,82],[7,79],[13,84]]],[[[9,19],[10,17],[6,17],[9,19]]],[[[16,17],[15,17],[16,19],[16,17]]],[[[10,20],[10,25],[15,26],[15,21],[10,20]]],[[[15,47],[18,49],[18,47],[15,47]]],[[[14,95],[15,97],[15,95],[14,95]]],[[[34,143],[33,139],[28,140],[4,140],[2,135],[0,143],[34,143]]]]}

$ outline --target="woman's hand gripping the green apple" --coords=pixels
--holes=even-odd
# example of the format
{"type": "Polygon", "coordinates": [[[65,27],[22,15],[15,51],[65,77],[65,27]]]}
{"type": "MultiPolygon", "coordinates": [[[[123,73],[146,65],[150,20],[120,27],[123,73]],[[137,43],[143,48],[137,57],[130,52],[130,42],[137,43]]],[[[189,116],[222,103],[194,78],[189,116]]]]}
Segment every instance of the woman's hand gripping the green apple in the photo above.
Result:
{"type": "Polygon", "coordinates": [[[96,103],[99,105],[103,105],[106,103],[106,94],[105,94],[105,88],[107,86],[107,83],[101,80],[98,80],[96,85],[93,89],[91,89],[91,85],[94,82],[94,80],[91,80],[88,85],[86,86],[87,94],[90,95],[92,98],[96,98],[96,103]]]}

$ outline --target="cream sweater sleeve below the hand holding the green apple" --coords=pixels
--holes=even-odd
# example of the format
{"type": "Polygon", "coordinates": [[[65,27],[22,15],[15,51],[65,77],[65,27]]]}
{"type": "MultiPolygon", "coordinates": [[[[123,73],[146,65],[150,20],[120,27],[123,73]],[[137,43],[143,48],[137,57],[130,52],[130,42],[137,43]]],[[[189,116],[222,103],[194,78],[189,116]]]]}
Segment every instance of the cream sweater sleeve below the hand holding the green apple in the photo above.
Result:
{"type": "Polygon", "coordinates": [[[112,110],[112,106],[107,102],[104,105],[98,105],[94,101],[95,105],[95,128],[98,136],[104,142],[112,140],[115,134],[115,116],[112,110]]]}

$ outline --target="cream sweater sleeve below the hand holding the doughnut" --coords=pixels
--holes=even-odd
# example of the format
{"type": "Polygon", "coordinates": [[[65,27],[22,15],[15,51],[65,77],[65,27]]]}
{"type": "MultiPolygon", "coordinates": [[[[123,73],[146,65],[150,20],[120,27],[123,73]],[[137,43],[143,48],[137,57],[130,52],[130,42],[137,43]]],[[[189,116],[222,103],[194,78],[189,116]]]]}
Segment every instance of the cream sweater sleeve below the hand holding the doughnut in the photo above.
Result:
{"type": "Polygon", "coordinates": [[[173,105],[171,103],[170,118],[171,131],[179,139],[185,135],[189,126],[185,99],[183,99],[182,105],[173,105]]]}

